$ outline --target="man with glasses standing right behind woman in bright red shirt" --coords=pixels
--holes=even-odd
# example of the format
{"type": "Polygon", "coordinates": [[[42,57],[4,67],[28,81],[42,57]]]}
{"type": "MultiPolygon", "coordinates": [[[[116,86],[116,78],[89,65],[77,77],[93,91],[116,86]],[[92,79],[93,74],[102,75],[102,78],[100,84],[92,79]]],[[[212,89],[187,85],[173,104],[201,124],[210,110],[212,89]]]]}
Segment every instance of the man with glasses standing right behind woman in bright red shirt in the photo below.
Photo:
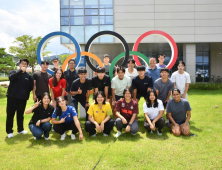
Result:
{"type": "Polygon", "coordinates": [[[68,96],[68,102],[67,104],[71,104],[71,95],[70,95],[70,88],[72,85],[72,82],[76,80],[78,77],[77,71],[75,70],[76,62],[74,59],[70,59],[69,62],[69,69],[64,72],[64,76],[66,79],[66,91],[67,91],[67,96],[68,96]]]}

